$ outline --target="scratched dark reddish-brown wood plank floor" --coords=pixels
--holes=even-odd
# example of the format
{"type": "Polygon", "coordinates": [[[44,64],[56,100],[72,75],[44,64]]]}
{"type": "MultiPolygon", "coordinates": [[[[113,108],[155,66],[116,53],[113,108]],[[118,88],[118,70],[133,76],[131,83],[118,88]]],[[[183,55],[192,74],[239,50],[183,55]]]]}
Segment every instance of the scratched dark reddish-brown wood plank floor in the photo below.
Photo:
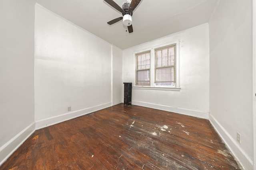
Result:
{"type": "Polygon", "coordinates": [[[208,120],[113,107],[35,131],[1,170],[236,170],[208,120]]]}

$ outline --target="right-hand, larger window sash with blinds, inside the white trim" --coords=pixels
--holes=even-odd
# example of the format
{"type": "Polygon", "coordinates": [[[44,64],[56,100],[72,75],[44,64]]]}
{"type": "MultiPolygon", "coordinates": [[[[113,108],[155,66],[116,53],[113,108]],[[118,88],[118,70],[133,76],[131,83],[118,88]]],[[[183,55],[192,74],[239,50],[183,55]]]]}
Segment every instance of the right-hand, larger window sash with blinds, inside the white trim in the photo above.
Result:
{"type": "Polygon", "coordinates": [[[175,44],[155,49],[155,83],[160,86],[174,86],[176,80],[175,44]]]}

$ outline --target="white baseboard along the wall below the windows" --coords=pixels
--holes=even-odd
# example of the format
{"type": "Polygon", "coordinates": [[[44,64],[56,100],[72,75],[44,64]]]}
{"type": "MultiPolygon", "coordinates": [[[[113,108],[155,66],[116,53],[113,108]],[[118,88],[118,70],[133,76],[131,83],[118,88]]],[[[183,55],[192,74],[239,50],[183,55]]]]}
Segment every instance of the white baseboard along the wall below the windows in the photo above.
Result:
{"type": "Polygon", "coordinates": [[[132,101],[132,105],[144,106],[144,107],[149,107],[149,108],[159,109],[159,110],[164,110],[164,111],[170,111],[170,112],[174,112],[174,113],[180,113],[183,115],[199,117],[202,119],[209,119],[208,112],[195,111],[195,110],[190,110],[190,109],[183,109],[183,108],[178,108],[178,107],[153,104],[153,103],[148,103],[148,102],[140,102],[140,101],[134,101],[134,100],[132,101]]]}

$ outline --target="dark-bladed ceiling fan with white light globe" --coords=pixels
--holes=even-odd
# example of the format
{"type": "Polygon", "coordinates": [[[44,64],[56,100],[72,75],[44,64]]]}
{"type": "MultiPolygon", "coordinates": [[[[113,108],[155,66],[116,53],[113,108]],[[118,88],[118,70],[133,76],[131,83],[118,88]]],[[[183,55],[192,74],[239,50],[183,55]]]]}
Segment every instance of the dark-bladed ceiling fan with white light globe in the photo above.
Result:
{"type": "Polygon", "coordinates": [[[122,5],[122,8],[120,6],[118,6],[118,4],[116,4],[116,2],[114,2],[113,0],[104,0],[104,1],[107,2],[108,4],[110,4],[110,6],[112,6],[119,12],[121,12],[123,15],[122,17],[118,17],[114,20],[108,21],[108,24],[112,25],[118,21],[123,20],[123,24],[128,27],[129,33],[132,33],[133,32],[132,12],[138,6],[138,4],[140,3],[141,0],[132,0],[132,2],[124,2],[124,4],[122,5]]]}

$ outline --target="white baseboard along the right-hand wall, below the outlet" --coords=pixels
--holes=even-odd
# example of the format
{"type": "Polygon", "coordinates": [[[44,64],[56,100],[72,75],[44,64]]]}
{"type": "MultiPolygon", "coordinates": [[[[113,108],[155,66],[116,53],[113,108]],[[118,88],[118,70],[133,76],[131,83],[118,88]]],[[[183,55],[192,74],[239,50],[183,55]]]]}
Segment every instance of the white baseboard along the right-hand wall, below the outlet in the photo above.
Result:
{"type": "Polygon", "coordinates": [[[231,137],[231,135],[222,127],[222,125],[215,119],[215,117],[209,114],[209,120],[213,127],[220,135],[226,146],[230,149],[232,154],[238,160],[245,170],[253,170],[252,159],[244,152],[244,150],[236,143],[236,141],[231,137]]]}

